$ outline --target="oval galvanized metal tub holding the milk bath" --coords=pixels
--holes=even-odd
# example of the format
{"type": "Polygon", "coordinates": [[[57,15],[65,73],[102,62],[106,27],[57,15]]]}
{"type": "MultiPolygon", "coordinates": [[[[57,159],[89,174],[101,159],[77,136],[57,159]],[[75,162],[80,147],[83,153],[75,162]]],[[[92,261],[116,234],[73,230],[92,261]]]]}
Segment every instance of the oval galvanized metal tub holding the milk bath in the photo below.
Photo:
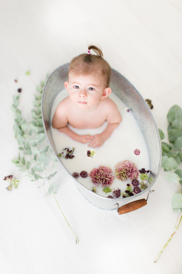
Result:
{"type": "MultiPolygon", "coordinates": [[[[68,80],[68,67],[69,64],[65,64],[59,68],[56,68],[56,70],[54,70],[47,79],[42,93],[42,120],[44,130],[49,141],[49,145],[58,160],[58,152],[56,151],[56,147],[51,135],[50,115],[52,103],[56,95],[64,88],[64,82],[68,80]]],[[[114,92],[127,105],[127,107],[132,110],[132,113],[141,129],[149,152],[151,183],[148,188],[134,196],[112,199],[94,193],[93,191],[80,184],[76,179],[74,179],[77,188],[90,203],[92,203],[94,206],[97,206],[98,208],[106,210],[113,209],[114,203],[123,205],[131,199],[143,194],[145,191],[150,191],[151,186],[157,180],[161,164],[160,136],[153,115],[151,114],[145,100],[133,87],[133,85],[114,69],[112,69],[110,87],[112,92],[114,92]]],[[[60,164],[62,163],[60,162],[60,164]]],[[[65,168],[65,172],[66,171],[68,172],[68,170],[65,168]]]]}

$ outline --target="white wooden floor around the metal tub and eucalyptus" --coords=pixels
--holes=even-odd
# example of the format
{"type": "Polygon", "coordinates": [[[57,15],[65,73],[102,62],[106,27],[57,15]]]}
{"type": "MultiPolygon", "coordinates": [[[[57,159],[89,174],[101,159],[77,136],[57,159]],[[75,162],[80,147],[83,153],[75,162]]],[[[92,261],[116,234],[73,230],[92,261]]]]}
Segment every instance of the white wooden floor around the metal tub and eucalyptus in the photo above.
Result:
{"type": "Polygon", "coordinates": [[[177,219],[171,206],[177,188],[163,170],[147,206],[121,217],[91,206],[59,166],[56,197],[79,239],[75,245],[53,196],[11,163],[18,145],[10,106],[22,88],[20,106],[29,118],[35,86],[46,74],[99,43],[111,67],[152,100],[166,134],[169,108],[182,107],[182,2],[1,0],[0,6],[0,177],[20,180],[10,192],[1,179],[0,273],[181,274],[182,224],[154,263],[177,219]]]}

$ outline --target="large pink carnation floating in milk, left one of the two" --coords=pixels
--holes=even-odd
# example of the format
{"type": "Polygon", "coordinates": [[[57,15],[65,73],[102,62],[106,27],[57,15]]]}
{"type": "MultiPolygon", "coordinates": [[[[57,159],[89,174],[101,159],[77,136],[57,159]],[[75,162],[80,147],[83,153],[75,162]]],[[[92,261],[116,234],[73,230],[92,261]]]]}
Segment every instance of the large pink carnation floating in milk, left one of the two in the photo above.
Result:
{"type": "Polygon", "coordinates": [[[99,185],[100,183],[104,185],[111,185],[114,181],[114,176],[110,173],[113,171],[110,167],[100,166],[99,168],[94,167],[90,173],[89,177],[92,178],[93,184],[99,185]]]}

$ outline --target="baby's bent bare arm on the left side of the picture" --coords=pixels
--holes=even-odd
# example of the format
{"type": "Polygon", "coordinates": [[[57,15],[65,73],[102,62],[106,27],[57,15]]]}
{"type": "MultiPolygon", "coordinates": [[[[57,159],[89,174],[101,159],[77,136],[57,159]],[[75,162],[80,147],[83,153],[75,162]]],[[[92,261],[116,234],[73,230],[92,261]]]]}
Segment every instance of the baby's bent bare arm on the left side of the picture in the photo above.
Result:
{"type": "MultiPolygon", "coordinates": [[[[65,98],[66,99],[66,98],[65,98]]],[[[67,110],[69,109],[66,107],[66,100],[62,100],[56,108],[54,116],[52,118],[52,127],[57,128],[60,132],[65,133],[67,136],[71,137],[72,139],[80,142],[80,143],[88,143],[92,141],[94,136],[90,135],[78,135],[73,132],[68,126],[68,119],[66,116],[67,110]]]]}

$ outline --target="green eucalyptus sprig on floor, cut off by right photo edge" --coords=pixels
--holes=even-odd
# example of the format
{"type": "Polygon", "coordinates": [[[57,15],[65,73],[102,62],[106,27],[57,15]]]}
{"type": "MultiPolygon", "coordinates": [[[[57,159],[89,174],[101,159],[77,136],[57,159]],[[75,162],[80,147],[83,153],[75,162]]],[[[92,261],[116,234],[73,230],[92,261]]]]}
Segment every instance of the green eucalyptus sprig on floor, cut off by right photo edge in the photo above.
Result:
{"type": "MultiPolygon", "coordinates": [[[[166,174],[166,178],[170,183],[177,184],[179,193],[173,194],[172,197],[172,207],[175,212],[178,212],[178,218],[180,216],[180,212],[182,212],[182,194],[180,187],[182,185],[182,109],[174,105],[170,108],[167,114],[168,120],[168,140],[169,142],[162,142],[164,139],[164,133],[159,129],[161,146],[162,146],[162,162],[161,167],[164,168],[164,171],[170,171],[170,173],[166,174]]],[[[159,256],[163,252],[164,248],[170,242],[174,234],[176,233],[177,228],[180,225],[182,220],[182,215],[180,216],[180,220],[175,225],[174,232],[171,234],[170,238],[163,246],[162,250],[157,255],[154,262],[157,262],[159,256]]]]}

